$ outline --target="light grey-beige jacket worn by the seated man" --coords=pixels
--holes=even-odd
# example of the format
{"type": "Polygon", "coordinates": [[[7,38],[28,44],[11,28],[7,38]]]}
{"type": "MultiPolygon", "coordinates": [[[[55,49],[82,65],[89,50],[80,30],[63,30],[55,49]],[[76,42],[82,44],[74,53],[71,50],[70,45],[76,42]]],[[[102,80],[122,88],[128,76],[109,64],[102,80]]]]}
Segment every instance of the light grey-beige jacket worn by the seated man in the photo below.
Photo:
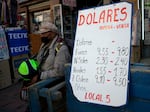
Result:
{"type": "Polygon", "coordinates": [[[40,79],[50,77],[64,76],[64,65],[71,61],[68,47],[64,42],[58,41],[56,36],[51,44],[42,44],[37,55],[37,61],[40,66],[40,79]]]}

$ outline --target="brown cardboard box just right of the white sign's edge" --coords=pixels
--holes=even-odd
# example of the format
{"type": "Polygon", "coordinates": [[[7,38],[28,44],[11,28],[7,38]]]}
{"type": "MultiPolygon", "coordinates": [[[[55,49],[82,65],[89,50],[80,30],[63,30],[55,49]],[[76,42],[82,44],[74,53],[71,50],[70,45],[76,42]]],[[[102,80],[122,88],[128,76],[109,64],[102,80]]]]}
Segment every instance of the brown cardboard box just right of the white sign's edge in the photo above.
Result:
{"type": "Polygon", "coordinates": [[[132,46],[131,47],[131,57],[130,62],[131,63],[138,63],[141,59],[141,49],[140,46],[132,46]]]}

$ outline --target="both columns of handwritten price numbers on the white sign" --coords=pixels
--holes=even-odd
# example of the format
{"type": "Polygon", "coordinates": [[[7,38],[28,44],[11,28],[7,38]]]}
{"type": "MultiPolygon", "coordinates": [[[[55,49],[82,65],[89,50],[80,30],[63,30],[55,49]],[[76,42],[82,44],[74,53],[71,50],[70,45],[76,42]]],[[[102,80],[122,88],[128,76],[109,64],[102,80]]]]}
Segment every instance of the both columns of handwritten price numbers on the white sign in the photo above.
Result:
{"type": "Polygon", "coordinates": [[[114,51],[109,51],[109,48],[97,48],[96,58],[96,83],[104,84],[112,81],[115,86],[126,87],[128,83],[128,57],[129,47],[117,47],[114,51]],[[114,59],[109,57],[109,53],[115,56],[114,59]],[[108,64],[113,66],[108,68],[108,64]],[[106,79],[106,75],[113,75],[112,79],[106,79]]]}

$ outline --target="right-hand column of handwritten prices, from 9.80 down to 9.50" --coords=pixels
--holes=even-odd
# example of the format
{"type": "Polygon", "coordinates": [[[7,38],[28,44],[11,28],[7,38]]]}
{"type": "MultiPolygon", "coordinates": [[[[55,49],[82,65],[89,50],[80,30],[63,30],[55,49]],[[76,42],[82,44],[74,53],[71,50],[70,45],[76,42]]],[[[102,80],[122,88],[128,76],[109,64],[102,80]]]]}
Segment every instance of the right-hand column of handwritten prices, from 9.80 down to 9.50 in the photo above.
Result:
{"type": "Polygon", "coordinates": [[[128,61],[129,61],[129,47],[117,47],[117,56],[114,62],[114,85],[119,87],[127,86],[128,75],[128,61]]]}

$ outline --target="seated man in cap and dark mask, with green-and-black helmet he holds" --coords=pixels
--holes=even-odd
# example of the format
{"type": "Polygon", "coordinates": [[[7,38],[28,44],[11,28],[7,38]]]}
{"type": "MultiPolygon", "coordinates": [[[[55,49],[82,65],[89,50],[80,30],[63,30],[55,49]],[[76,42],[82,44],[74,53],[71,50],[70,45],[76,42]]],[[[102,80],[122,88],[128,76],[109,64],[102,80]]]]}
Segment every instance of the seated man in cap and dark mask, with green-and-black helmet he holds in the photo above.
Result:
{"type": "MultiPolygon", "coordinates": [[[[58,29],[54,24],[42,23],[39,33],[42,44],[36,58],[23,61],[18,68],[18,72],[24,79],[21,90],[23,100],[28,100],[30,85],[39,80],[64,76],[64,65],[71,61],[68,47],[59,36],[58,29]]],[[[41,110],[47,109],[44,101],[40,98],[41,110]]]]}

